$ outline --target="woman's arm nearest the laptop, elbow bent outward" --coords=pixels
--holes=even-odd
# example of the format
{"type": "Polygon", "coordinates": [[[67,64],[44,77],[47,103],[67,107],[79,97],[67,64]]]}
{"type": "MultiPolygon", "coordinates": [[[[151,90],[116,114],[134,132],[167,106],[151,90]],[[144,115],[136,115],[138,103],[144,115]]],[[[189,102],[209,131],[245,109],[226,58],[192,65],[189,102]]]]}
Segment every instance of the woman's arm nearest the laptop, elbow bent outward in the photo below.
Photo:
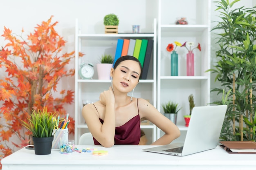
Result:
{"type": "Polygon", "coordinates": [[[151,145],[167,145],[177,137],[180,137],[179,128],[170,119],[162,115],[152,104],[141,98],[138,99],[138,104],[141,119],[151,121],[165,133],[151,145]]]}

